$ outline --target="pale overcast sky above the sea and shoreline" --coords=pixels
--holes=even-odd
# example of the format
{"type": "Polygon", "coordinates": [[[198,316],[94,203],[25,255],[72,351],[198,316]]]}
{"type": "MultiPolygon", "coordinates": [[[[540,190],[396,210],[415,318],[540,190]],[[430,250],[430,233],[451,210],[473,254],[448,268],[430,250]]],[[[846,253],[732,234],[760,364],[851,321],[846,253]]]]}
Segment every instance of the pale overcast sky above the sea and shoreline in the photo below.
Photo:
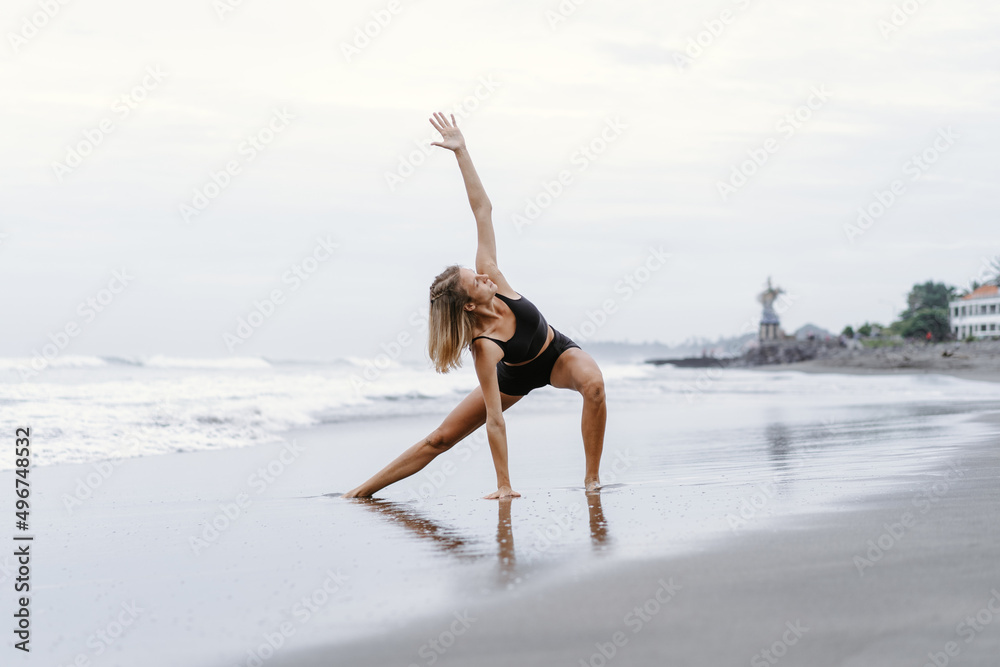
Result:
{"type": "Polygon", "coordinates": [[[739,333],[769,275],[786,330],[887,322],[1000,254],[987,0],[57,6],[4,3],[0,356],[422,347],[476,243],[435,110],[511,285],[594,340],[739,333]]]}

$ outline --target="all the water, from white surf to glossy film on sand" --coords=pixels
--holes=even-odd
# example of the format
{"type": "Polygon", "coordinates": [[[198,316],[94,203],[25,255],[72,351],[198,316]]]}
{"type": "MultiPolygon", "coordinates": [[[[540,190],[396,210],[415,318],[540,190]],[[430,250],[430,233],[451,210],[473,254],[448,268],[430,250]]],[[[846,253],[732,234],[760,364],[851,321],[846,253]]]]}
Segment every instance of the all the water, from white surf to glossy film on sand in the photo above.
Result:
{"type": "MultiPolygon", "coordinates": [[[[498,600],[531,604],[553,584],[794,530],[891,488],[905,500],[887,521],[903,511],[929,521],[934,498],[953,492],[941,471],[961,474],[967,453],[997,436],[977,419],[1000,409],[997,383],[597,359],[606,487],[582,488],[580,396],[545,387],[506,420],[522,494],[507,503],[480,500],[495,488],[485,429],[377,500],[334,495],[446,415],[476,386],[471,368],[94,357],[30,382],[8,375],[4,428],[33,429],[33,528],[51,545],[35,561],[46,588],[33,604],[58,632],[36,658],[96,658],[88,638],[135,601],[147,611],[109,664],[259,667],[266,637],[288,623],[294,635],[263,664],[294,664],[299,649],[380,641],[498,600]],[[251,479],[281,460],[282,441],[302,451],[260,489],[251,479]],[[255,443],[269,444],[221,451],[255,443]],[[96,466],[56,464],[118,457],[66,503],[96,466]],[[251,502],[234,514],[240,493],[251,502]],[[331,592],[305,615],[302,600],[321,590],[331,592]]],[[[396,664],[426,664],[419,650],[396,664]]]]}

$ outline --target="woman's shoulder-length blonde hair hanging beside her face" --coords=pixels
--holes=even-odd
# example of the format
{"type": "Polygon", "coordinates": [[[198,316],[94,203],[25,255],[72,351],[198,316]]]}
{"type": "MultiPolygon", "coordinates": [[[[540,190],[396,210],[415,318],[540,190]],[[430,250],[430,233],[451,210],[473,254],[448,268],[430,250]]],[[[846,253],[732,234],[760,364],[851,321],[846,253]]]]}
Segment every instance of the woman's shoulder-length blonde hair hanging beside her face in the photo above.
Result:
{"type": "Polygon", "coordinates": [[[459,284],[461,268],[452,264],[431,283],[427,351],[438,373],[461,367],[462,350],[472,342],[479,324],[479,315],[465,309],[471,299],[459,284]]]}

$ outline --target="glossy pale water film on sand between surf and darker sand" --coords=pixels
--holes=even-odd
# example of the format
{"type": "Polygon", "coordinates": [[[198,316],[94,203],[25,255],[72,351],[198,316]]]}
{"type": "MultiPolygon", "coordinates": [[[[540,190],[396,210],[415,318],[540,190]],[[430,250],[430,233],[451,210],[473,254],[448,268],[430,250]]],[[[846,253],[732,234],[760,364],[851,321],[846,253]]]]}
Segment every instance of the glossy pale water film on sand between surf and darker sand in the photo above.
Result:
{"type": "Polygon", "coordinates": [[[483,429],[378,500],[330,495],[426,434],[446,401],[420,416],[282,431],[301,453],[267,484],[260,471],[281,461],[281,442],[121,461],[72,511],[66,494],[92,466],[39,468],[36,611],[49,635],[33,658],[97,664],[88,637],[129,601],[144,611],[107,664],[249,665],[282,627],[287,651],[528,600],[888,487],[927,493],[941,481],[929,471],[960,469],[964,447],[995,435],[996,423],[972,417],[1000,408],[1000,385],[949,377],[727,371],[692,392],[696,371],[642,370],[609,382],[606,487],[593,495],[581,399],[551,388],[507,412],[523,495],[505,502],[481,500],[495,480],[483,429]],[[250,502],[234,512],[241,493],[250,502]]]}

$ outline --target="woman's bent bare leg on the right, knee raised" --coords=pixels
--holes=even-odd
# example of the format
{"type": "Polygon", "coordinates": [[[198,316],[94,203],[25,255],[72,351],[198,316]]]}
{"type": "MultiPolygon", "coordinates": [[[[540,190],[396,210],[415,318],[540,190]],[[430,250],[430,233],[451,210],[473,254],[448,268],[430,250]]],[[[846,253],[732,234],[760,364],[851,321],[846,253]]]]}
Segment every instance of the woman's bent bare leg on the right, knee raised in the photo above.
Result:
{"type": "Polygon", "coordinates": [[[578,347],[566,349],[552,367],[549,384],[573,389],[583,396],[583,450],[587,458],[584,484],[588,491],[600,486],[601,452],[608,410],[604,397],[604,376],[593,357],[578,347]]]}

